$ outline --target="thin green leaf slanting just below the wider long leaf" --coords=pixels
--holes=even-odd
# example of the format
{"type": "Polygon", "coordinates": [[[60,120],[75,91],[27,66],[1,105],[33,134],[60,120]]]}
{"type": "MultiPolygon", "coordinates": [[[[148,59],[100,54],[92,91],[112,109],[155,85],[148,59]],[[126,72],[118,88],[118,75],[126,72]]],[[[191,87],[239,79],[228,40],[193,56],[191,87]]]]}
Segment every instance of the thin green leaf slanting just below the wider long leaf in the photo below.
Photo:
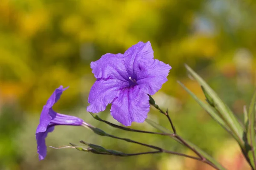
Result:
{"type": "MultiPolygon", "coordinates": [[[[204,108],[205,111],[207,111],[207,113],[209,113],[209,115],[212,117],[212,119],[214,119],[216,122],[218,122],[218,124],[220,124],[225,130],[227,130],[227,132],[229,132],[232,136],[235,136],[234,133],[232,133],[230,131],[230,128],[227,126],[227,124],[223,121],[223,119],[218,115],[218,113],[216,112],[215,108],[212,108],[211,106],[207,105],[206,103],[202,102],[200,99],[198,99],[197,96],[195,96],[195,94],[193,94],[188,88],[186,88],[185,85],[183,85],[181,82],[178,81],[178,83],[195,99],[196,102],[198,102],[198,104],[204,108]]],[[[209,96],[208,96],[209,98],[209,96]]],[[[209,102],[211,102],[212,100],[209,99],[209,102]]]]}

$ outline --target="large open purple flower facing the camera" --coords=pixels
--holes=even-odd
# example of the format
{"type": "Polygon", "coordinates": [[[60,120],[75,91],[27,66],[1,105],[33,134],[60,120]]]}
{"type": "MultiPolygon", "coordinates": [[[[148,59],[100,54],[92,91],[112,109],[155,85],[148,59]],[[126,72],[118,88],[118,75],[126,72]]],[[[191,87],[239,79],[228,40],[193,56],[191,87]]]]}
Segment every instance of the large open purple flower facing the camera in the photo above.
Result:
{"type": "Polygon", "coordinates": [[[171,69],[154,59],[153,53],[150,42],[139,42],[124,54],[107,53],[91,62],[97,80],[90,90],[87,111],[99,113],[111,103],[111,115],[123,125],[144,122],[150,107],[147,94],[160,90],[171,69]]]}

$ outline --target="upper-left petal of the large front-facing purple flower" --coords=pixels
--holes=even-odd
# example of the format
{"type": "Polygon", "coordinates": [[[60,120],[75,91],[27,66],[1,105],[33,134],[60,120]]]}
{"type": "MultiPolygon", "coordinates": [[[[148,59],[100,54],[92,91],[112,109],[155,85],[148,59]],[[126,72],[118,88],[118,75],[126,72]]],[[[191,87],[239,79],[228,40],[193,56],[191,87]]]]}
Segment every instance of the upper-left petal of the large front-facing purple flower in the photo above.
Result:
{"type": "Polygon", "coordinates": [[[90,66],[96,79],[98,78],[116,78],[128,80],[128,74],[125,71],[123,54],[105,54],[99,60],[91,62],[90,66]]]}

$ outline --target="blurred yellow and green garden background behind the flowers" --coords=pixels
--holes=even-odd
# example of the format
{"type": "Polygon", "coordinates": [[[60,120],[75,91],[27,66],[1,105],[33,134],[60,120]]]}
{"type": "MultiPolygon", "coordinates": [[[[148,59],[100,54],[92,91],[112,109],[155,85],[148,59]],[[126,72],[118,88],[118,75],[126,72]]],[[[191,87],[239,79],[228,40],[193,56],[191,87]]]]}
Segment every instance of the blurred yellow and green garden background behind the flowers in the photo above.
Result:
{"type": "MultiPolygon", "coordinates": [[[[116,136],[191,154],[168,137],[129,133],[96,122],[86,112],[95,78],[90,62],[150,41],[154,57],[169,63],[168,82],[154,95],[169,108],[178,133],[229,170],[248,165],[236,142],[177,84],[204,99],[186,75],[190,65],[242,120],[256,84],[255,0],[0,0],[0,169],[1,170],[210,170],[167,154],[129,158],[48,148],[38,161],[35,130],[43,105],[59,85],[70,86],[54,106],[116,136]]],[[[109,108],[99,115],[117,123],[109,108]]],[[[169,127],[151,108],[148,118],[169,127]]],[[[117,123],[118,124],[118,123],[117,123]]],[[[154,130],[146,123],[132,128],[154,130]]],[[[79,140],[127,153],[148,148],[96,136],[83,127],[55,127],[47,145],[79,140]]]]}

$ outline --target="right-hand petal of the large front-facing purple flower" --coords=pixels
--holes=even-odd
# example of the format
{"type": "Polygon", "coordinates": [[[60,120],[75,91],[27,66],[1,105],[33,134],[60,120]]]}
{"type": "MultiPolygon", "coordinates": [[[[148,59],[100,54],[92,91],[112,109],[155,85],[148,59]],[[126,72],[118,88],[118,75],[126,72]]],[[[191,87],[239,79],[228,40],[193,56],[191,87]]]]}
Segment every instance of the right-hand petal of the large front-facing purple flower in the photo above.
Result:
{"type": "Polygon", "coordinates": [[[158,59],[152,60],[143,71],[137,75],[137,84],[144,89],[145,93],[154,95],[162,88],[163,83],[167,81],[167,76],[172,67],[158,59]]]}

